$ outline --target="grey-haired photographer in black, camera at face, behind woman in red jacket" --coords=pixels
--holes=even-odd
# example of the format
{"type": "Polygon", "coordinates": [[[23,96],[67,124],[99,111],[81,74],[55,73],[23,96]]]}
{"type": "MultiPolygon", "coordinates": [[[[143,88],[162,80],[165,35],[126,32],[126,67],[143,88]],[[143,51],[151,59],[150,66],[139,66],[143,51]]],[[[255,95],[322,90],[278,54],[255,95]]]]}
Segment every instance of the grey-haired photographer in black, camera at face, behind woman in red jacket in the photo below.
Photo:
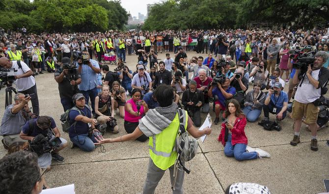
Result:
{"type": "Polygon", "coordinates": [[[233,96],[240,104],[240,107],[244,106],[246,99],[246,91],[248,89],[248,80],[244,77],[245,69],[239,67],[233,77],[230,79],[230,85],[236,90],[236,94],[233,96]]]}

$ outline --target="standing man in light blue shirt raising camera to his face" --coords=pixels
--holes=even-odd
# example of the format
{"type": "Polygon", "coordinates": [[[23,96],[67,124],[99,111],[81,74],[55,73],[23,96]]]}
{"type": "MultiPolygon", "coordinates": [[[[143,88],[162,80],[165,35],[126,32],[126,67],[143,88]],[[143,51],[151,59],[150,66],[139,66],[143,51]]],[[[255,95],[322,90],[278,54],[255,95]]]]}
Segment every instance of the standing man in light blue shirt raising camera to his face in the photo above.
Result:
{"type": "Polygon", "coordinates": [[[89,102],[89,97],[91,101],[92,112],[95,112],[95,98],[98,94],[97,86],[98,74],[101,73],[99,64],[96,60],[90,59],[89,52],[87,50],[82,51],[82,58],[89,58],[87,64],[83,64],[82,59],[78,60],[79,67],[78,71],[81,74],[82,82],[79,84],[79,90],[85,97],[86,104],[89,102]]]}

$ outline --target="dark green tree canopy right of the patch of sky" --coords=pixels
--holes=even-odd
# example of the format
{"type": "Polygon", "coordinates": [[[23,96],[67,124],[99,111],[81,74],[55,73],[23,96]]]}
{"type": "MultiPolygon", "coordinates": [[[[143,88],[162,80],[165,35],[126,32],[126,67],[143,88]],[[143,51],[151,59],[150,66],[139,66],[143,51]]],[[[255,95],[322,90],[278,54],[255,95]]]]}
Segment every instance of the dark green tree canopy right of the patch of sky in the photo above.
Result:
{"type": "Polygon", "coordinates": [[[309,28],[328,19],[328,0],[166,0],[151,7],[143,29],[245,28],[249,23],[309,28]]]}

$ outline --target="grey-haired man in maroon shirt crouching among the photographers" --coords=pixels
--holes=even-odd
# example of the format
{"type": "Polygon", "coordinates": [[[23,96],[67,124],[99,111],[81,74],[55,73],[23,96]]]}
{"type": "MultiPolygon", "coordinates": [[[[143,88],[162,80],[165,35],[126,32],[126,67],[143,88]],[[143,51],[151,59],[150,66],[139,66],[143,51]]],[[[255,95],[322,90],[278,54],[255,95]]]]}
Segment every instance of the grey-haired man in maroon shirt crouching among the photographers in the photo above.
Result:
{"type": "Polygon", "coordinates": [[[194,78],[196,82],[196,88],[203,92],[204,103],[201,108],[201,112],[208,113],[209,112],[209,97],[208,97],[208,88],[210,87],[210,83],[213,81],[211,77],[206,76],[206,70],[200,69],[199,76],[194,78]]]}

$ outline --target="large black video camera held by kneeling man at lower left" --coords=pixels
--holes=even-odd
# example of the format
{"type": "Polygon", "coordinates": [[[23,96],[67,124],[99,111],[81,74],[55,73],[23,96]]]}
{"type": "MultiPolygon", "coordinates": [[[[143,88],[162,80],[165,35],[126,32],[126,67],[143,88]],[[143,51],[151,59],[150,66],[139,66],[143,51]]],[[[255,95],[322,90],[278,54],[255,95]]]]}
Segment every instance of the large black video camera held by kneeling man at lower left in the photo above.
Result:
{"type": "Polygon", "coordinates": [[[32,141],[28,141],[31,150],[38,156],[49,153],[52,149],[59,149],[62,143],[58,137],[53,137],[53,131],[51,129],[46,130],[47,134],[45,136],[38,134],[32,141]]]}

